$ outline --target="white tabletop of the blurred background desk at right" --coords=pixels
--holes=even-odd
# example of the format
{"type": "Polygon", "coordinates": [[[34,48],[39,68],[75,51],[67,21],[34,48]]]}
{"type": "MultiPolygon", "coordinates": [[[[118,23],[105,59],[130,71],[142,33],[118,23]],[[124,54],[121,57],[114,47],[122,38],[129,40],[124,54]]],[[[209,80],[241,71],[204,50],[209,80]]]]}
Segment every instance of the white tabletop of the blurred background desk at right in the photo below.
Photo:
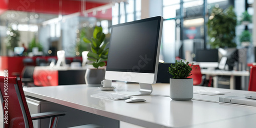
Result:
{"type": "Polygon", "coordinates": [[[201,69],[202,74],[206,75],[226,75],[226,76],[250,76],[249,71],[226,71],[226,70],[208,70],[201,69]]]}

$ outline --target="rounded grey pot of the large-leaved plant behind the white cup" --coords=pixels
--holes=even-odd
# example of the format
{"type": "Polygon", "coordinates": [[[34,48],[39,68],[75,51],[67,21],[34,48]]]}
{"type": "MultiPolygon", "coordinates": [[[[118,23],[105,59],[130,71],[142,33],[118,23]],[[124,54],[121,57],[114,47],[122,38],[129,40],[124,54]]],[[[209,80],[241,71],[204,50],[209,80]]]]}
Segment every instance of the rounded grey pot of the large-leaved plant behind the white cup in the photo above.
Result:
{"type": "Polygon", "coordinates": [[[96,84],[101,85],[101,81],[105,78],[105,69],[87,69],[86,75],[86,84],[96,84]]]}

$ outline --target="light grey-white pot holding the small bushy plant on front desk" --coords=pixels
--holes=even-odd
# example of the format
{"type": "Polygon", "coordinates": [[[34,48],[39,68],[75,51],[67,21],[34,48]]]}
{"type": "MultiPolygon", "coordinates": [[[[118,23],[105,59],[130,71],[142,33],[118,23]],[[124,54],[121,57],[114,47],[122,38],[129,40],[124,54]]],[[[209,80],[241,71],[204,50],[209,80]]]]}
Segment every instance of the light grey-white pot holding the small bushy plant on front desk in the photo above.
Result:
{"type": "Polygon", "coordinates": [[[173,100],[191,100],[193,98],[193,79],[170,78],[170,98],[173,100]]]}

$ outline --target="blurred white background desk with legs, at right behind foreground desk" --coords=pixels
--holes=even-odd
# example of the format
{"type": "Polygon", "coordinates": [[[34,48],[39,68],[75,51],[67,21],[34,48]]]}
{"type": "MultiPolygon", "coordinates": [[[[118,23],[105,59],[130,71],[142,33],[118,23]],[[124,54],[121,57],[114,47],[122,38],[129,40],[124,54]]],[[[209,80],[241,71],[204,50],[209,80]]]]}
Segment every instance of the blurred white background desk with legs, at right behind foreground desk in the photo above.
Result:
{"type": "MultiPolygon", "coordinates": [[[[230,89],[236,89],[236,84],[234,83],[234,76],[250,76],[249,71],[225,71],[225,70],[207,70],[207,69],[201,69],[201,73],[205,75],[210,76],[217,76],[217,75],[223,75],[223,76],[230,76],[230,89]]],[[[215,80],[216,81],[216,80],[215,80]]],[[[244,83],[244,79],[242,79],[241,83],[244,83]]],[[[243,85],[242,85],[243,86],[243,85]]],[[[214,87],[217,88],[217,83],[214,82],[214,87]]]]}

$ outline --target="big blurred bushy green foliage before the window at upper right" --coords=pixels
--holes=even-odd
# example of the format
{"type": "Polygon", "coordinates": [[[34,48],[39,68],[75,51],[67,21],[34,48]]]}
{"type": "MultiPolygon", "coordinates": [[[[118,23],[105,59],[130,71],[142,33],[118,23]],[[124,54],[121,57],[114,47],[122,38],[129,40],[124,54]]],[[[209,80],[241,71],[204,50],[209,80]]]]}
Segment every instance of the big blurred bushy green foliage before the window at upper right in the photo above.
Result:
{"type": "Polygon", "coordinates": [[[230,6],[226,10],[213,8],[209,17],[208,35],[209,44],[212,48],[232,48],[237,47],[234,42],[236,37],[237,16],[230,6]]]}

